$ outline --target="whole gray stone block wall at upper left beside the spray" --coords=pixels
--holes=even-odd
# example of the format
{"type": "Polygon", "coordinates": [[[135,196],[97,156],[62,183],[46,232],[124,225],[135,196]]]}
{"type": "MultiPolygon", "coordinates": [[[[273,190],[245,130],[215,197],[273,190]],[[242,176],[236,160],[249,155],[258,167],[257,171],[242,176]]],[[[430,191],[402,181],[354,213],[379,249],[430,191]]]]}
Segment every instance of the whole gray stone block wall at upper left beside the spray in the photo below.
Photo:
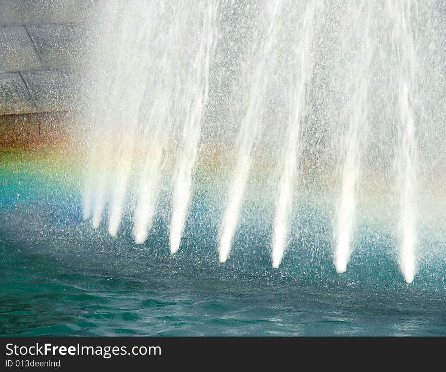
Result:
{"type": "Polygon", "coordinates": [[[86,24],[99,3],[0,0],[0,115],[77,107],[72,71],[85,71],[86,24]]]}

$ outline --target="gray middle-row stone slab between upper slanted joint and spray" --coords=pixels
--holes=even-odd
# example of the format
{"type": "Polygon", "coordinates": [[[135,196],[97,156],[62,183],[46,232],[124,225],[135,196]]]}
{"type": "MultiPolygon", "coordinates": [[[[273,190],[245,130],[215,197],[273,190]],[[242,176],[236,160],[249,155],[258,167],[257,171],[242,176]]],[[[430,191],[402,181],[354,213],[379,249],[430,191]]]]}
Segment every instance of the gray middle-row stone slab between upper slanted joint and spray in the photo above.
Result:
{"type": "Polygon", "coordinates": [[[45,24],[27,26],[37,53],[45,68],[78,69],[83,58],[86,44],[85,29],[69,24],[45,24]]]}

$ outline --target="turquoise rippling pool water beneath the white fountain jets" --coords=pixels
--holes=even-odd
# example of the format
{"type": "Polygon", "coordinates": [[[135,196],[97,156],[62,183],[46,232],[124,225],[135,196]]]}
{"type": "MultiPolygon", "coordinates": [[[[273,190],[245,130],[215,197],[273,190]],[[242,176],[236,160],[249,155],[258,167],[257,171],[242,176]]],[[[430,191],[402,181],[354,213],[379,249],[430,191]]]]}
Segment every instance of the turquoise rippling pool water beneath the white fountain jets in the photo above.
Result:
{"type": "Polygon", "coordinates": [[[271,268],[271,229],[252,221],[242,223],[230,259],[220,264],[218,219],[197,195],[181,249],[171,256],[166,215],[135,245],[130,220],[117,239],[109,237],[105,227],[93,231],[81,220],[79,195],[5,174],[3,335],[446,336],[444,249],[425,253],[406,284],[392,238],[362,227],[339,275],[329,220],[308,206],[296,216],[301,234],[279,269],[271,268]]]}

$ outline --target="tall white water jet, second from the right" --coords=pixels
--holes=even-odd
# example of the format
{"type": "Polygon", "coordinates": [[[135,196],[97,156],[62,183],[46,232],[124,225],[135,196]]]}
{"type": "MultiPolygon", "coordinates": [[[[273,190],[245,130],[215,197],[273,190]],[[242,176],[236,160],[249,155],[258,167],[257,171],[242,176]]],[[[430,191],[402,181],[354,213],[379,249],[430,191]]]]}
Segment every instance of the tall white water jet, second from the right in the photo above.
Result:
{"type": "Polygon", "coordinates": [[[361,158],[368,136],[367,98],[369,90],[370,62],[373,55],[373,42],[370,38],[370,2],[362,2],[348,13],[352,27],[359,35],[359,41],[351,44],[356,47],[347,69],[350,79],[346,79],[345,116],[348,128],[340,145],[341,191],[334,218],[333,240],[334,265],[338,273],[347,270],[350,258],[352,235],[356,213],[356,193],[361,158]],[[364,13],[364,14],[362,14],[364,13]]]}

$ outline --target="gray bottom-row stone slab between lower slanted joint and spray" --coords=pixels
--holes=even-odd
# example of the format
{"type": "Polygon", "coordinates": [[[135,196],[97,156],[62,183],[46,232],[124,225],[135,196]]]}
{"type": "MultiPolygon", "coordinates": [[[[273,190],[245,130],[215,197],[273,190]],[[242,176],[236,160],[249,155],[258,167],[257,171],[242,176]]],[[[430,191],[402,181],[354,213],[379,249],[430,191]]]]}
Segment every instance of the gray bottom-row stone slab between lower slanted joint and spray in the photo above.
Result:
{"type": "Polygon", "coordinates": [[[67,71],[24,72],[23,78],[38,112],[75,110],[79,78],[67,71]]]}

